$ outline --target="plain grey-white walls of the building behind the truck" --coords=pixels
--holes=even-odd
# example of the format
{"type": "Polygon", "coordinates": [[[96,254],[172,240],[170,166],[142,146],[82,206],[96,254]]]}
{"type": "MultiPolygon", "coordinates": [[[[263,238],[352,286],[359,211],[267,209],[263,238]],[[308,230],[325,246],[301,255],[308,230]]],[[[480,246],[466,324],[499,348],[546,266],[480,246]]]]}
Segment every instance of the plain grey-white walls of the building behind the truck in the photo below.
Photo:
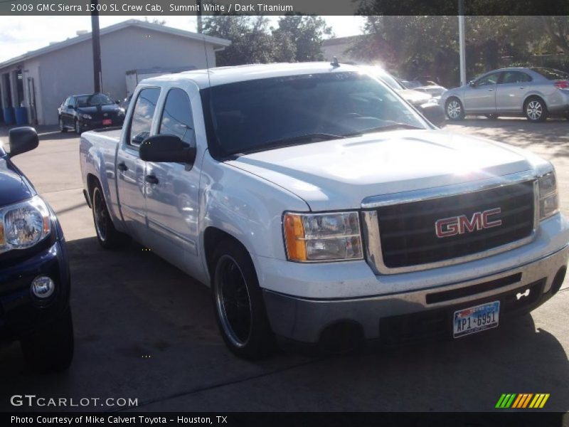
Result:
{"type": "MultiPolygon", "coordinates": [[[[91,46],[89,39],[23,63],[23,70],[28,70],[24,73],[24,91],[28,90],[26,77],[33,77],[36,85],[40,125],[57,124],[57,109],[69,95],[93,91],[91,46]]],[[[102,35],[101,52],[102,91],[115,100],[127,95],[127,70],[216,65],[211,45],[207,45],[207,64],[203,42],[137,27],[102,35]]],[[[27,105],[28,95],[25,99],[27,105]]]]}

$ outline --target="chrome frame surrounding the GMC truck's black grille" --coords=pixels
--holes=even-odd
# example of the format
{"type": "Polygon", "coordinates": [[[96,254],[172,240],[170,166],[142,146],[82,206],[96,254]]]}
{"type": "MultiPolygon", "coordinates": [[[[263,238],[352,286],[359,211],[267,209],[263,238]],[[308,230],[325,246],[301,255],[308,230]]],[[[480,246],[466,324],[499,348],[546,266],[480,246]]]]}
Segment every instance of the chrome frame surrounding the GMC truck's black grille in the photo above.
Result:
{"type": "MultiPolygon", "coordinates": [[[[388,206],[393,204],[412,203],[414,201],[422,201],[427,199],[439,199],[442,197],[457,196],[459,194],[465,194],[474,191],[493,189],[499,186],[519,184],[524,181],[531,181],[532,179],[535,180],[533,181],[533,230],[531,231],[529,236],[522,238],[518,241],[506,243],[506,245],[496,246],[495,248],[487,249],[486,251],[471,253],[469,255],[464,255],[457,258],[450,258],[447,260],[440,260],[434,263],[408,265],[405,267],[395,267],[395,268],[390,268],[387,265],[385,265],[385,263],[383,263],[383,252],[381,250],[381,237],[379,230],[378,213],[375,210],[363,211],[361,213],[361,224],[363,228],[363,236],[365,236],[363,244],[364,247],[366,248],[366,261],[368,265],[371,267],[373,273],[375,273],[376,275],[410,273],[413,271],[430,270],[432,268],[446,267],[447,265],[467,263],[469,261],[479,260],[481,258],[486,258],[491,255],[497,255],[505,251],[511,251],[512,249],[519,248],[520,246],[530,243],[531,241],[533,241],[534,238],[536,238],[536,231],[539,227],[539,222],[540,222],[538,183],[537,183],[537,175],[534,172],[531,173],[522,172],[521,174],[511,174],[511,175],[501,176],[499,177],[499,179],[485,180],[484,184],[474,183],[474,186],[472,185],[473,183],[469,183],[469,186],[465,184],[459,184],[457,186],[452,186],[452,191],[450,191],[450,189],[447,189],[447,187],[442,187],[442,191],[438,193],[438,195],[436,193],[437,189],[406,191],[405,193],[386,195],[386,196],[391,196],[391,199],[389,199],[390,203],[387,202],[388,199],[385,199],[383,201],[374,202],[373,204],[373,206],[379,207],[379,206],[388,206]],[[508,177],[508,179],[504,180],[505,177],[508,177]],[[426,191],[428,191],[429,194],[427,194],[426,191]],[[401,194],[404,194],[405,196],[393,198],[393,196],[401,194]]],[[[379,198],[382,196],[374,196],[374,197],[379,198]]],[[[371,206],[371,205],[368,204],[366,206],[371,206]]]]}

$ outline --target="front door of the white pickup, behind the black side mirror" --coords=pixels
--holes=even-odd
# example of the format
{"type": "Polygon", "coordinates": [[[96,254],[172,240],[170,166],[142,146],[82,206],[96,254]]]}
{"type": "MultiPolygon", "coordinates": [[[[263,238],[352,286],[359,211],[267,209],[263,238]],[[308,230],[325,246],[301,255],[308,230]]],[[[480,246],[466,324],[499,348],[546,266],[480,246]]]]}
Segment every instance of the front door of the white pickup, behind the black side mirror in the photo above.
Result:
{"type": "MultiPolygon", "coordinates": [[[[198,93],[194,94],[196,98],[198,93]]],[[[170,88],[157,134],[176,135],[196,147],[192,106],[186,90],[170,88]]],[[[198,149],[196,159],[203,150],[198,149]]],[[[198,260],[198,189],[200,164],[147,162],[147,218],[150,247],[191,273],[198,260]]]]}

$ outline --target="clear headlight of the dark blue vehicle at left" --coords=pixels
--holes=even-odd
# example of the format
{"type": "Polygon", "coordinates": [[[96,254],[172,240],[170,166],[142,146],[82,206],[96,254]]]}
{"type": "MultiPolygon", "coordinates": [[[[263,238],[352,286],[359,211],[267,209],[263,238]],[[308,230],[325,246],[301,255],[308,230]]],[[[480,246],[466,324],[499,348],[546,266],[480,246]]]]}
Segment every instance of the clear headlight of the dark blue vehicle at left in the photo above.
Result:
{"type": "Polygon", "coordinates": [[[40,196],[0,209],[0,253],[30,248],[50,232],[48,206],[40,196]]]}

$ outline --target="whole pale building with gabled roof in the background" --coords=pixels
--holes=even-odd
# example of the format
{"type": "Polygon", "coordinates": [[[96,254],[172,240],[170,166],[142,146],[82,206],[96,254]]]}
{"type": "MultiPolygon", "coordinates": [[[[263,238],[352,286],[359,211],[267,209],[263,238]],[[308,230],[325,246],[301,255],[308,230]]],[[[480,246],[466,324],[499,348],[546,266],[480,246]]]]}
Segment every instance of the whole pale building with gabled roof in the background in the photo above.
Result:
{"type": "MultiPolygon", "coordinates": [[[[31,124],[55,125],[57,109],[66,97],[93,92],[91,34],[78,33],[0,63],[0,112],[5,107],[26,107],[31,124]]],[[[102,92],[115,100],[126,97],[129,70],[215,67],[216,51],[230,43],[137,20],[102,28],[102,92]]],[[[0,114],[0,122],[2,118],[0,114]]]]}

